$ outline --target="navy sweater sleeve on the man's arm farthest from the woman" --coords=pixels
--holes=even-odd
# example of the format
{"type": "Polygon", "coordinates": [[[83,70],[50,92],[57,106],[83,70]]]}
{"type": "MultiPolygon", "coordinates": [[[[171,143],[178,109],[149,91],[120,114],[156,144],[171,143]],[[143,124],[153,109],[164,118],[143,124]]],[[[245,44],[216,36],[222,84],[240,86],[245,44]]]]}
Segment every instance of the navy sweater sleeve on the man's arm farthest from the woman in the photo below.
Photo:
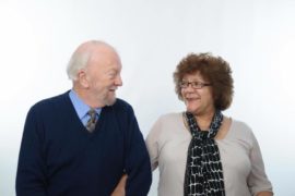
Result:
{"type": "Polygon", "coordinates": [[[37,114],[33,108],[26,117],[20,149],[15,183],[17,196],[46,195],[45,161],[42,155],[40,131],[42,125],[37,123],[37,114]]]}

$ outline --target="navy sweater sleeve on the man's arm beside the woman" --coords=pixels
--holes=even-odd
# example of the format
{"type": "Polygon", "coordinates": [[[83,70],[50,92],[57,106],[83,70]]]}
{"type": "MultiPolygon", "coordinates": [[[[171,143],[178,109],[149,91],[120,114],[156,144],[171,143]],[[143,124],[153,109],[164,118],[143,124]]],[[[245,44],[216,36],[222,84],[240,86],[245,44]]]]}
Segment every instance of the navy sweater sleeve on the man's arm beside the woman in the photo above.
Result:
{"type": "Polygon", "coordinates": [[[134,112],[131,107],[130,109],[126,155],[126,173],[128,174],[126,195],[146,196],[152,184],[150,158],[134,112]]]}

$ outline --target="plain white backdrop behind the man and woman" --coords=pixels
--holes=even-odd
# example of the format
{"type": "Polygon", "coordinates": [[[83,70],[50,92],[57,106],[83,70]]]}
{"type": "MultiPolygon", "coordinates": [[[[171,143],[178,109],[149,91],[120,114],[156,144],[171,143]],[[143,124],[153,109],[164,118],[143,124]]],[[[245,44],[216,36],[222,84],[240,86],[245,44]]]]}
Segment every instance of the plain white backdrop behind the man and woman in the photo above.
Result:
{"type": "MultiPolygon", "coordinates": [[[[252,127],[276,195],[295,195],[295,0],[0,0],[0,27],[1,196],[15,195],[28,108],[71,87],[66,64],[88,39],[118,49],[118,97],[133,106],[144,136],[161,114],[185,108],[172,78],[184,56],[227,60],[235,97],[225,113],[252,127]]],[[[157,172],[150,196],[156,186],[157,172]]]]}

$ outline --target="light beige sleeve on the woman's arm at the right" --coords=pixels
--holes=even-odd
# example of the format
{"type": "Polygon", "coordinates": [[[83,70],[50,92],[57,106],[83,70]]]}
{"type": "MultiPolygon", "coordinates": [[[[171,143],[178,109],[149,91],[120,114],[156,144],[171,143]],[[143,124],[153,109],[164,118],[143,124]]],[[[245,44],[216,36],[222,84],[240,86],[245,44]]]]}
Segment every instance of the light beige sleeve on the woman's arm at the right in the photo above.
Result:
{"type": "Polygon", "coordinates": [[[248,186],[252,195],[257,195],[259,192],[272,192],[272,185],[268,180],[264,171],[264,164],[259,144],[252,133],[251,137],[252,148],[249,155],[251,161],[251,171],[248,176],[248,186]]]}

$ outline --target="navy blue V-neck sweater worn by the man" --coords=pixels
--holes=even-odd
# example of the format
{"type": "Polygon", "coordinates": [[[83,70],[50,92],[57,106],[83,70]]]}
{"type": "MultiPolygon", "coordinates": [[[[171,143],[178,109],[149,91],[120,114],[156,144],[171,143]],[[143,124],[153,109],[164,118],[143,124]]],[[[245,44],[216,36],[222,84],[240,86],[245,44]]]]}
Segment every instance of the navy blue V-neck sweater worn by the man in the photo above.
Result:
{"type": "Polygon", "coordinates": [[[19,157],[17,196],[109,196],[128,174],[126,194],[145,196],[152,182],[144,139],[130,105],[104,107],[93,133],[69,93],[28,111],[19,157]]]}

